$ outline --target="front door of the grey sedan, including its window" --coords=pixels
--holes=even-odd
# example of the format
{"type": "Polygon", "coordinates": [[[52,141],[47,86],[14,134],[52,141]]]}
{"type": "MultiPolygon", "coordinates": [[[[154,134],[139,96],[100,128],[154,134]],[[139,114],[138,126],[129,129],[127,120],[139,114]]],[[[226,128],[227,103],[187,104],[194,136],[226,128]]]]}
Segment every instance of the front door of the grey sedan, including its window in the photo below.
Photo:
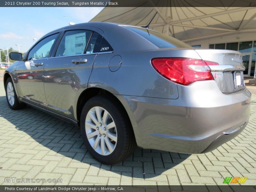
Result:
{"type": "Polygon", "coordinates": [[[54,48],[59,33],[47,36],[29,50],[26,61],[20,62],[15,70],[17,91],[22,100],[47,108],[44,94],[44,66],[54,48]]]}

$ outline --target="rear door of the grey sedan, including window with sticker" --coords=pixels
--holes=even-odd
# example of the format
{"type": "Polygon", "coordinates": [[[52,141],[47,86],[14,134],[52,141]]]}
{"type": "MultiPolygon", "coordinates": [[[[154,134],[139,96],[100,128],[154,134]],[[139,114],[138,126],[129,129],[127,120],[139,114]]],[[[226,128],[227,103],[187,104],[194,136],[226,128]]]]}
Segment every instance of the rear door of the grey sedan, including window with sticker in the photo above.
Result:
{"type": "Polygon", "coordinates": [[[51,111],[76,119],[75,105],[79,95],[87,89],[102,38],[99,33],[103,32],[92,27],[72,28],[62,33],[55,57],[44,66],[44,90],[51,111]]]}

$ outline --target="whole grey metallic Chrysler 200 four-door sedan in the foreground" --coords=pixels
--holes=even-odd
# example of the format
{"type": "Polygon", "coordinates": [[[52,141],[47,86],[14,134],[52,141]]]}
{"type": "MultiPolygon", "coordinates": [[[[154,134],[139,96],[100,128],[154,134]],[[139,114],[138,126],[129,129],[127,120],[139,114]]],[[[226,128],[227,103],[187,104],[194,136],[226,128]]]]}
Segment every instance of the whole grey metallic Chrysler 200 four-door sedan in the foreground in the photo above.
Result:
{"type": "Polygon", "coordinates": [[[242,132],[250,116],[239,52],[195,50],[146,28],[77,24],[10,58],[10,108],[28,104],[80,125],[87,150],[105,164],[136,145],[205,153],[242,132]]]}

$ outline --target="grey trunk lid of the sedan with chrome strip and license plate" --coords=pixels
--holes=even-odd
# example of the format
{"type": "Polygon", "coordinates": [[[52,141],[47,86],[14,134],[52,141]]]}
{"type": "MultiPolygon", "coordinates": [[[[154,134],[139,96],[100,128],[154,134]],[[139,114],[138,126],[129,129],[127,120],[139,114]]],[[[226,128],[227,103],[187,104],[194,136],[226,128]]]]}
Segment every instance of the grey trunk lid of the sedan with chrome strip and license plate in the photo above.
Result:
{"type": "Polygon", "coordinates": [[[244,66],[240,52],[218,49],[196,49],[202,60],[216,62],[209,65],[212,76],[223,93],[231,93],[244,88],[244,66]]]}

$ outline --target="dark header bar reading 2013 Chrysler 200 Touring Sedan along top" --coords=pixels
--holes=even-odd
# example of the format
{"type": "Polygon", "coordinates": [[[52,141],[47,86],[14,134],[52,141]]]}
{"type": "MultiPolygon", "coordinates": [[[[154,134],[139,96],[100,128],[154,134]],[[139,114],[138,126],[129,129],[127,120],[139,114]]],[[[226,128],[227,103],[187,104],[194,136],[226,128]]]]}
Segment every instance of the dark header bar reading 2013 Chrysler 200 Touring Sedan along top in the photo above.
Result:
{"type": "Polygon", "coordinates": [[[256,7],[256,0],[1,0],[0,7],[256,7]]]}

